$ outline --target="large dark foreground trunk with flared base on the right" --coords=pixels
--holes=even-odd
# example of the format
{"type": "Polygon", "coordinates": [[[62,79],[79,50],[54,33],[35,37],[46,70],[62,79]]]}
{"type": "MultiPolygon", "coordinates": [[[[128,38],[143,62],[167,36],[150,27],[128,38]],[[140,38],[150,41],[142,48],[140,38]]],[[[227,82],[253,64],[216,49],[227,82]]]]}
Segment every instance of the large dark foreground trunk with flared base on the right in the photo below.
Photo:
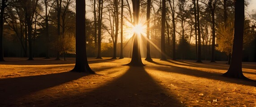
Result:
{"type": "Polygon", "coordinates": [[[231,63],[225,77],[247,79],[242,72],[244,0],[234,1],[234,41],[231,63]]]}

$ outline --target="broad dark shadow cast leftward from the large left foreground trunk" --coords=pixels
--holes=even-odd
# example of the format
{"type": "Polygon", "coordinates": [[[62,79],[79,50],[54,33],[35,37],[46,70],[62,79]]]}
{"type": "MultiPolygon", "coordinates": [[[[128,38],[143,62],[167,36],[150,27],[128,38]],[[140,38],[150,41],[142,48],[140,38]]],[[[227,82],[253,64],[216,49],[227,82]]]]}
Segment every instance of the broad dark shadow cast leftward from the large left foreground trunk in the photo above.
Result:
{"type": "Polygon", "coordinates": [[[28,77],[0,79],[0,105],[8,106],[23,95],[70,82],[86,76],[83,73],[62,72],[28,77]]]}

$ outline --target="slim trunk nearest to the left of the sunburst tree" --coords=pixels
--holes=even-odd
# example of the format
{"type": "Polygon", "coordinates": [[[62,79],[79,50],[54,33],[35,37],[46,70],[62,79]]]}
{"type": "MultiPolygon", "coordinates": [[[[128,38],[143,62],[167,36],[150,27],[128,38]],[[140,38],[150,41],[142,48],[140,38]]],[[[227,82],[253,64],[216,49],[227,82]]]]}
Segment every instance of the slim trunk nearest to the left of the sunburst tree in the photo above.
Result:
{"type": "Polygon", "coordinates": [[[123,57],[123,12],[124,12],[124,0],[121,0],[121,52],[120,52],[120,58],[123,57]]]}

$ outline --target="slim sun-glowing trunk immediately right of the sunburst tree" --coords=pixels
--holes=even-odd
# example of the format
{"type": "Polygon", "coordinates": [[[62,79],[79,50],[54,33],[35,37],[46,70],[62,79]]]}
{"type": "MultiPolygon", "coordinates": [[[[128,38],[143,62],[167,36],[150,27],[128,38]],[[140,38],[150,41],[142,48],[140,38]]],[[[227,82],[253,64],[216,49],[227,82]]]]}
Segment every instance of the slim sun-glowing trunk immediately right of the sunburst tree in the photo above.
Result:
{"type": "MultiPolygon", "coordinates": [[[[149,40],[149,30],[150,30],[150,6],[151,6],[151,0],[147,0],[147,38],[149,40]]],[[[152,61],[152,58],[150,56],[150,43],[147,41],[147,57],[145,59],[146,61],[152,61]]]]}

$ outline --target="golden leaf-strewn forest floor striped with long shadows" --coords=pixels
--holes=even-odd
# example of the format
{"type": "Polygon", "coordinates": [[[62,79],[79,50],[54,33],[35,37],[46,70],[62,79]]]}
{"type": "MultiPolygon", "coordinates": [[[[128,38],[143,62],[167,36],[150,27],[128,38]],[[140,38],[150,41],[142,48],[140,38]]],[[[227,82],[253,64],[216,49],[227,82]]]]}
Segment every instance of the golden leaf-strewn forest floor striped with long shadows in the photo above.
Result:
{"type": "MultiPolygon", "coordinates": [[[[1,107],[256,107],[256,82],[221,76],[226,62],[89,58],[97,75],[86,75],[68,72],[74,58],[5,59],[1,107]]],[[[256,62],[243,62],[243,74],[256,80],[256,62]]]]}

